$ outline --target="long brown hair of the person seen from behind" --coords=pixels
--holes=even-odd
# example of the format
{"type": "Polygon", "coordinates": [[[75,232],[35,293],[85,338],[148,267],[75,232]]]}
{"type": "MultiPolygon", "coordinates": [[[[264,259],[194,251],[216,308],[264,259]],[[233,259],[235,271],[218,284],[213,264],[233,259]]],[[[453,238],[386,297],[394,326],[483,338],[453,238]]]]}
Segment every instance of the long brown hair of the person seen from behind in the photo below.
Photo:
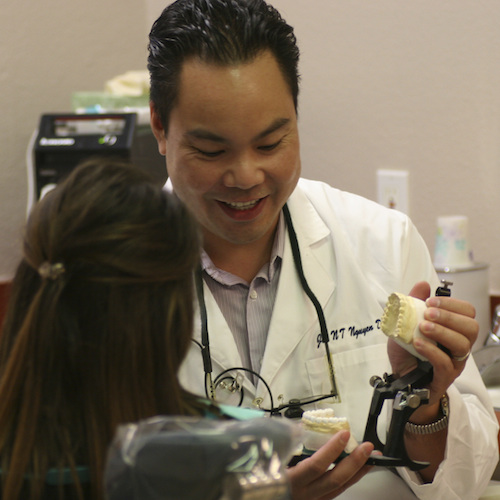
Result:
{"type": "Polygon", "coordinates": [[[136,167],[90,161],[34,208],[0,338],[3,500],[77,465],[102,498],[118,424],[198,413],[177,380],[198,260],[193,218],[136,167]]]}

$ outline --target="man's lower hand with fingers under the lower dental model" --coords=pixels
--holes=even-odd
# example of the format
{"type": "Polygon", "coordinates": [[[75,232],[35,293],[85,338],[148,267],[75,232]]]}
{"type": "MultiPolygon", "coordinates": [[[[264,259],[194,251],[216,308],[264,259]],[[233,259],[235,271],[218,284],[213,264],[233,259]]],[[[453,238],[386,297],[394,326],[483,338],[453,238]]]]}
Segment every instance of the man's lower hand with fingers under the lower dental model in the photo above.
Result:
{"type": "Polygon", "coordinates": [[[314,455],[287,470],[293,500],[330,500],[371,469],[365,463],[373,451],[373,444],[363,443],[329,470],[344,450],[349,435],[349,431],[338,432],[314,455]]]}

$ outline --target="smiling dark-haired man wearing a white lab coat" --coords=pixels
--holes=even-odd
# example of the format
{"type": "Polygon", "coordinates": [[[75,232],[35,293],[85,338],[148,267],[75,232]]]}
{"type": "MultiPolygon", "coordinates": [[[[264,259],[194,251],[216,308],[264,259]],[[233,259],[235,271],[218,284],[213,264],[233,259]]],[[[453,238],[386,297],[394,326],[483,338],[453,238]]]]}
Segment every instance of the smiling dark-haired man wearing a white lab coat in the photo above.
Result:
{"type": "MultiPolygon", "coordinates": [[[[208,336],[204,352],[215,375],[242,367],[236,398],[244,405],[272,410],[334,390],[339,398],[317,404],[346,416],[362,439],[369,378],[403,374],[416,363],[387,343],[379,325],[391,292],[427,299],[437,286],[421,237],[402,214],[300,179],[298,49],[293,30],[262,0],[174,2],[153,26],[149,49],[152,128],[171,186],[203,232],[195,340],[206,344],[208,336]]],[[[400,491],[398,498],[473,499],[484,489],[498,460],[498,428],[468,359],[478,330],[474,309],[447,297],[427,305],[426,338],[415,349],[434,375],[429,404],[411,415],[405,445],[429,467],[401,469],[403,479],[387,470],[365,475],[373,445],[362,443],[327,470],[349,437],[339,433],[289,470],[293,498],[400,491]]],[[[196,345],[181,379],[210,394],[196,345]]]]}

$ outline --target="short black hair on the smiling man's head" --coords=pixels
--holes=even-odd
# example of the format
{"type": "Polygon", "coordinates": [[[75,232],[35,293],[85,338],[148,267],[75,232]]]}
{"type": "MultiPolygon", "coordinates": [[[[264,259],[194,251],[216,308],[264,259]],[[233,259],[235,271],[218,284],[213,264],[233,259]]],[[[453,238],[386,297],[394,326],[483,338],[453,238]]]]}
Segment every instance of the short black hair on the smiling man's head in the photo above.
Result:
{"type": "Polygon", "coordinates": [[[149,34],[150,100],[165,133],[179,93],[182,64],[189,58],[217,65],[251,62],[269,50],[290,87],[295,109],[299,49],[293,28],[264,0],[177,0],[149,34]]]}

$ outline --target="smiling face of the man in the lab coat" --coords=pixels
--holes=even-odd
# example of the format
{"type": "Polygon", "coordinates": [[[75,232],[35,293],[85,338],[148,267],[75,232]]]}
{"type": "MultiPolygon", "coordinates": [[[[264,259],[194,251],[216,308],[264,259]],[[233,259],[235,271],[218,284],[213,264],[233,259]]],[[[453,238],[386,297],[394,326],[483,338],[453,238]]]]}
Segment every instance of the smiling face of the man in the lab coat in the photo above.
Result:
{"type": "Polygon", "coordinates": [[[186,61],[167,136],[154,112],[152,126],[208,253],[272,238],[300,154],[292,95],[270,53],[238,66],[186,61]]]}

